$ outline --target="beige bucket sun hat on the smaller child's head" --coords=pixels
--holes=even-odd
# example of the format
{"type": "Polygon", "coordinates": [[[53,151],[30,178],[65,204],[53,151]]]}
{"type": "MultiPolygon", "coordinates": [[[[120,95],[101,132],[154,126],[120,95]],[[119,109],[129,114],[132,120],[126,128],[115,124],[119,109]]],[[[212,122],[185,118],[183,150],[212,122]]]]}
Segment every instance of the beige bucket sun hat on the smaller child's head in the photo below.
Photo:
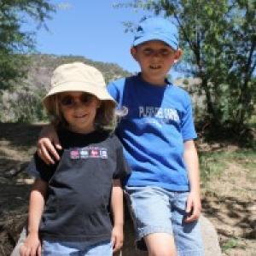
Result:
{"type": "Polygon", "coordinates": [[[96,96],[101,101],[110,101],[116,104],[108,93],[102,73],[96,67],[82,62],[63,64],[55,69],[49,92],[43,99],[44,106],[48,108],[49,96],[64,91],[84,91],[96,96]]]}

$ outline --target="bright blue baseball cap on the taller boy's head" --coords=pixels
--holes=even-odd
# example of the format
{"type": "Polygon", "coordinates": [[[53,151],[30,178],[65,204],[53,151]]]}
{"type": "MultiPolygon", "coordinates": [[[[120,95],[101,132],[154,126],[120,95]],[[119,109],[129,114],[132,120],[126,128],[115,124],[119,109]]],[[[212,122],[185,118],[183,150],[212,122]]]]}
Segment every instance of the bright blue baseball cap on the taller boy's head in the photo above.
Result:
{"type": "Polygon", "coordinates": [[[178,48],[177,27],[169,20],[160,17],[143,20],[137,26],[133,46],[152,40],[163,41],[176,50],[178,48]]]}

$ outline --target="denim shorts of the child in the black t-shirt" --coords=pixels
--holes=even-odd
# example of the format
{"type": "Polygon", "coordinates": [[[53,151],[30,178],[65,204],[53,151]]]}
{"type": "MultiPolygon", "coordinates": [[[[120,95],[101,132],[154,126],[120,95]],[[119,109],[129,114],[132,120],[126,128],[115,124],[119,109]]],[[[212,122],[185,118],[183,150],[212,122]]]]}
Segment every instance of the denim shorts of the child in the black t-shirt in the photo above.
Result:
{"type": "Polygon", "coordinates": [[[43,240],[42,256],[112,256],[111,241],[102,241],[84,246],[81,241],[46,241],[43,240]]]}

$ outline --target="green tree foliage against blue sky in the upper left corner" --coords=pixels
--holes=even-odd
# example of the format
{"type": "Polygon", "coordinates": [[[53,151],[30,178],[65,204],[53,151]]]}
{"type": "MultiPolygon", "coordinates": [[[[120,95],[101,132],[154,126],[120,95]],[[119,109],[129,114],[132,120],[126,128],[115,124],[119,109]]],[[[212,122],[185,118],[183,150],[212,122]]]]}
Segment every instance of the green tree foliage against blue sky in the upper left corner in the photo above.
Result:
{"type": "MultiPolygon", "coordinates": [[[[21,30],[29,19],[45,26],[45,20],[54,12],[48,0],[3,0],[0,2],[0,90],[10,88],[26,75],[26,55],[33,49],[32,32],[21,30]]],[[[45,26],[46,27],[46,26],[45,26]]]]}

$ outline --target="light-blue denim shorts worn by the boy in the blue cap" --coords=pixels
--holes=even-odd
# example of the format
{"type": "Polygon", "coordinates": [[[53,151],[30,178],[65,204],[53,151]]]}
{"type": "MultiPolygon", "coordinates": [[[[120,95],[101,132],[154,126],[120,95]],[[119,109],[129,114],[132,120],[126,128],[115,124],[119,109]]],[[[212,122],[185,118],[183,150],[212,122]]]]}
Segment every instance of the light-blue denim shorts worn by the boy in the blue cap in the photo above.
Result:
{"type": "Polygon", "coordinates": [[[126,187],[125,196],[131,210],[137,248],[145,249],[143,237],[152,233],[174,236],[178,256],[203,256],[198,221],[185,223],[189,192],[172,192],[160,187],[126,187]]]}

